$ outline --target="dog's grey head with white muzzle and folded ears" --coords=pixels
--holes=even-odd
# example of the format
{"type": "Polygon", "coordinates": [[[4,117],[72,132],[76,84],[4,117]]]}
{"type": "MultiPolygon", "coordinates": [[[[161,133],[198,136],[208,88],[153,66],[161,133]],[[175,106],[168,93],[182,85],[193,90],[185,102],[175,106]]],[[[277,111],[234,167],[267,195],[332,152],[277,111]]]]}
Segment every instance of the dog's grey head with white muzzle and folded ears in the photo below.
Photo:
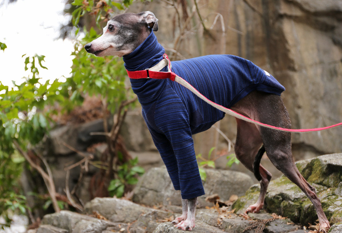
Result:
{"type": "Polygon", "coordinates": [[[148,37],[151,30],[158,30],[157,21],[150,11],[117,15],[108,21],[102,36],[86,44],[84,48],[98,57],[122,57],[133,52],[148,37]]]}

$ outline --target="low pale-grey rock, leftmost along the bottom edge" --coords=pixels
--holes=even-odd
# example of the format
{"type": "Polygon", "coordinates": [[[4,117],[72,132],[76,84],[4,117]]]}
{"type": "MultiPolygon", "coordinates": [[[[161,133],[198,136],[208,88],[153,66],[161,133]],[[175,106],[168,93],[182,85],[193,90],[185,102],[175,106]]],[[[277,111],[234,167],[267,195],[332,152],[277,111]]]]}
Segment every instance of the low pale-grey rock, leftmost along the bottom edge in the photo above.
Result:
{"type": "Polygon", "coordinates": [[[52,225],[56,228],[65,229],[66,232],[73,233],[101,233],[107,227],[115,225],[110,221],[100,220],[68,210],[45,215],[42,224],[52,225]]]}

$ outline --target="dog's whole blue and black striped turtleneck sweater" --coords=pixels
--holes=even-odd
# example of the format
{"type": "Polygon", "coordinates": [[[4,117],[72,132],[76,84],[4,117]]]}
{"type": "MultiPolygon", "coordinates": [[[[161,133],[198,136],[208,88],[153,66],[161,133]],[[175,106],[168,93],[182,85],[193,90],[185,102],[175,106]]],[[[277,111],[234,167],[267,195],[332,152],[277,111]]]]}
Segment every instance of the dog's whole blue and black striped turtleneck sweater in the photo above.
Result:
{"type": "MultiPolygon", "coordinates": [[[[156,65],[165,50],[153,32],[132,53],[123,56],[129,71],[156,65]]],[[[172,61],[172,71],[208,99],[231,107],[254,90],[280,95],[285,88],[251,61],[233,55],[209,55],[172,61]]],[[[166,68],[162,71],[167,71],[166,68]]],[[[133,92],[173,186],[182,198],[205,194],[198,172],[192,134],[205,131],[224,112],[169,79],[130,79],[133,92]]]]}

